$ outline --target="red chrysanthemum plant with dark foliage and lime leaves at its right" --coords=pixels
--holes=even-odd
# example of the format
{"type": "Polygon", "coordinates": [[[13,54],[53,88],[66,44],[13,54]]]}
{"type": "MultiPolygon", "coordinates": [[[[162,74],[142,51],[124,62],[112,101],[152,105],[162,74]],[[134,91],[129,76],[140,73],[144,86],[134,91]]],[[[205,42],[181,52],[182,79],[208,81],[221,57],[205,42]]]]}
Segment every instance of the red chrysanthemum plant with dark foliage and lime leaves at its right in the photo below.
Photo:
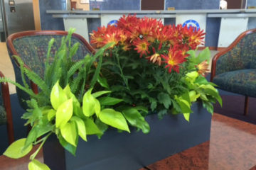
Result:
{"type": "Polygon", "coordinates": [[[129,105],[142,105],[159,113],[184,113],[189,120],[192,102],[203,102],[213,113],[213,103],[221,103],[218,91],[204,77],[208,71],[208,48],[203,30],[187,26],[164,26],[154,18],[122,16],[117,26],[98,28],[91,35],[96,48],[110,42],[105,52],[102,78],[110,79],[114,96],[129,105]],[[110,78],[112,77],[112,79],[110,78]]]}

